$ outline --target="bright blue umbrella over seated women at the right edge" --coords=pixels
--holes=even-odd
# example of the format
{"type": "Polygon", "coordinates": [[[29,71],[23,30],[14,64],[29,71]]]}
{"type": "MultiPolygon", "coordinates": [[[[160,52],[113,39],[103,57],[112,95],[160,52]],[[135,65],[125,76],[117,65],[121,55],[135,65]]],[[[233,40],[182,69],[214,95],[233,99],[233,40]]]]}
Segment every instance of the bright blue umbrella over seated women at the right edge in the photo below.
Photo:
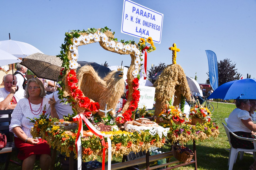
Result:
{"type": "Polygon", "coordinates": [[[219,86],[208,99],[256,99],[256,79],[234,80],[219,86]]]}

